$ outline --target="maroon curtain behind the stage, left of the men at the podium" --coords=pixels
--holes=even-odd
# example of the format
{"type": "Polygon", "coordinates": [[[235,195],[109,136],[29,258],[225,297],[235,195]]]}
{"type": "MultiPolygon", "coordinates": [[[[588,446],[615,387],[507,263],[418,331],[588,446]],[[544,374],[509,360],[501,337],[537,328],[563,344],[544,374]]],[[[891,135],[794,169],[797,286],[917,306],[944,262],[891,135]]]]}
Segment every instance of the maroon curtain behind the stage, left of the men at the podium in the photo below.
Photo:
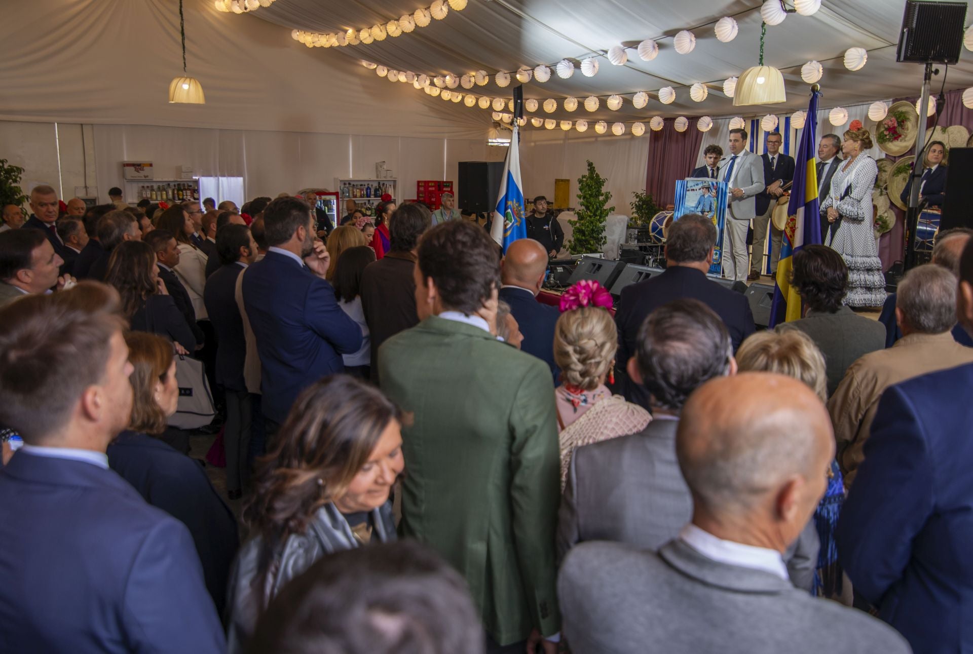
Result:
{"type": "Polygon", "coordinates": [[[649,132],[649,164],[645,171],[645,191],[652,194],[660,206],[675,201],[675,182],[685,179],[700,156],[703,132],[696,128],[696,119],[689,120],[686,131],[676,131],[667,118],[666,126],[649,132]]]}

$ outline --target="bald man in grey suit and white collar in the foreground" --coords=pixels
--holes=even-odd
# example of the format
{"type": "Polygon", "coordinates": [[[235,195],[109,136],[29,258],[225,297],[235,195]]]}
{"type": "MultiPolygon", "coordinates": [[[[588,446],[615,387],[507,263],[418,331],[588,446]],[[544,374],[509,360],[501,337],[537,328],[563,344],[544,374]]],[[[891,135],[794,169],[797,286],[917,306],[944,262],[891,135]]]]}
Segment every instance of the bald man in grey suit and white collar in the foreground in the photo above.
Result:
{"type": "Polygon", "coordinates": [[[559,574],[571,651],[910,652],[882,622],[787,580],[781,553],[824,494],[834,454],[828,413],[803,382],[744,373],[703,384],[676,434],[693,520],[658,554],[571,550],[559,574]]]}

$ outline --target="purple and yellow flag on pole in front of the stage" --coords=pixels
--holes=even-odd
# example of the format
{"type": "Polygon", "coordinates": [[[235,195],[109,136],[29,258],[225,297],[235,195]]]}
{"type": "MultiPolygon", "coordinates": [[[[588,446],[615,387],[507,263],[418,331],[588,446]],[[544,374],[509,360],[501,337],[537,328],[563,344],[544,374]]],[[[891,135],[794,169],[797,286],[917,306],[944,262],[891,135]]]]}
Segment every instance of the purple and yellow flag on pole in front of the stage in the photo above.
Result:
{"type": "Polygon", "coordinates": [[[794,184],[787,204],[787,226],[780,245],[780,261],[771,305],[771,329],[782,322],[798,320],[801,316],[801,296],[790,284],[794,253],[805,245],[821,242],[821,215],[817,199],[817,91],[811,92],[808,116],[801,134],[801,145],[794,166],[794,184]]]}

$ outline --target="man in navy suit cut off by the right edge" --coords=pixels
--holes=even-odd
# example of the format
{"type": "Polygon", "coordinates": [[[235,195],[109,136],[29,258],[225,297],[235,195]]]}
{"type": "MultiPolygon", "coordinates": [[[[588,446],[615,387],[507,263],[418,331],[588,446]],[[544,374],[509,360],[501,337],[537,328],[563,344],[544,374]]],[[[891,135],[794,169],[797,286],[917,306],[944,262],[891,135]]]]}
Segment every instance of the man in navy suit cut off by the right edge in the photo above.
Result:
{"type": "MultiPolygon", "coordinates": [[[[973,241],[956,313],[973,333],[973,241]]],[[[973,651],[973,364],[890,386],[842,509],[838,554],[855,591],[917,652],[973,651]]]]}

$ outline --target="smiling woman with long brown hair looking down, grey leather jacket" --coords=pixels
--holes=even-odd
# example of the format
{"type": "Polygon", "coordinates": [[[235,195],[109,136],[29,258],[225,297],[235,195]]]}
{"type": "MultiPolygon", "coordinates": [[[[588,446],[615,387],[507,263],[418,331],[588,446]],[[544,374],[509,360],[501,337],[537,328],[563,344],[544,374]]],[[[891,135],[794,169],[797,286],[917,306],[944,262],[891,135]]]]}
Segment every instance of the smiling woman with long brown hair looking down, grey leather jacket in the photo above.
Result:
{"type": "Polygon", "coordinates": [[[311,563],[395,539],[389,495],[404,468],[400,428],[395,405],[347,375],[298,396],[243,508],[253,537],[230,582],[230,654],[244,650],[270,599],[311,563]]]}

